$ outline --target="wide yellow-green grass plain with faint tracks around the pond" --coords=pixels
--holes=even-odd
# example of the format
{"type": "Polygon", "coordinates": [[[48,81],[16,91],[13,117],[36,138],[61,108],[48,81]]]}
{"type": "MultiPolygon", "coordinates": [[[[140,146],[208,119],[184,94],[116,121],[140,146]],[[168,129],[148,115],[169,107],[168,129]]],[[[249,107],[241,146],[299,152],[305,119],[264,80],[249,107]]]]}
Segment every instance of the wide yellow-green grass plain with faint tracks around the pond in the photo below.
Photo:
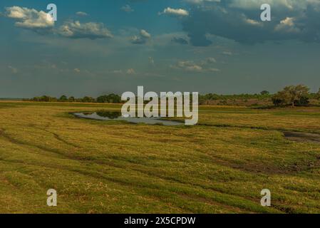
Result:
{"type": "Polygon", "coordinates": [[[320,108],[202,106],[192,127],[68,114],[101,109],[120,106],[0,102],[1,213],[320,213],[320,145],[282,133],[320,133],[320,108]]]}

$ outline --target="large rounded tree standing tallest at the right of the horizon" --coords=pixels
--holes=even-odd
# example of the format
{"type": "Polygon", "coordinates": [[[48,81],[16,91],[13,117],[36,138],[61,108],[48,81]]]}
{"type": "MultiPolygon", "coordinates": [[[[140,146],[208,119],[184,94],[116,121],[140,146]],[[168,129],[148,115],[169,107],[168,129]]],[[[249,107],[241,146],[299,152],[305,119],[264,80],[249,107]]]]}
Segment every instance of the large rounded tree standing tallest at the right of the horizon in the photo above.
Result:
{"type": "Polygon", "coordinates": [[[309,88],[304,85],[286,86],[272,97],[274,105],[306,105],[309,103],[309,88]]]}

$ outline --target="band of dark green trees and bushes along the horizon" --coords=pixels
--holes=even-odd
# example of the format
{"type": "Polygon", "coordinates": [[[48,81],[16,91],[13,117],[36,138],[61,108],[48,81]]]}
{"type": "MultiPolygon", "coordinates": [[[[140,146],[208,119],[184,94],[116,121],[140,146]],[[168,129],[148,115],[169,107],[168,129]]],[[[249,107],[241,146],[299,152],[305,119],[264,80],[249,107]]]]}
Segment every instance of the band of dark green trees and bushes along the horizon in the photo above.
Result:
{"type": "MultiPolygon", "coordinates": [[[[67,97],[61,95],[60,98],[54,98],[48,95],[24,99],[38,102],[80,102],[80,103],[124,103],[120,95],[111,93],[109,95],[100,95],[98,98],[85,96],[83,98],[67,97]]],[[[267,90],[255,94],[239,95],[219,95],[208,93],[199,95],[200,105],[265,105],[273,104],[275,106],[291,105],[309,105],[310,100],[320,100],[320,89],[318,93],[309,93],[309,88],[304,85],[287,86],[275,94],[270,94],[267,90]],[[250,103],[251,102],[251,103],[250,103]]]]}

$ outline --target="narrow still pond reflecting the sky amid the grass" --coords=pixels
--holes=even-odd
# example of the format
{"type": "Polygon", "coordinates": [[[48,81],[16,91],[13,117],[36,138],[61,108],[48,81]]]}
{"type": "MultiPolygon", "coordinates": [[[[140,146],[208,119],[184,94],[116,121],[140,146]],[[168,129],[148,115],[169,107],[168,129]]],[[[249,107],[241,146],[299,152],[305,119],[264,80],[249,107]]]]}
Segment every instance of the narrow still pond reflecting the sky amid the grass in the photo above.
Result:
{"type": "Polygon", "coordinates": [[[150,125],[160,124],[160,125],[183,125],[172,120],[160,120],[159,118],[134,118],[134,117],[123,117],[120,112],[108,112],[108,111],[99,111],[96,113],[73,113],[74,116],[78,118],[85,118],[91,120],[125,120],[130,123],[146,123],[150,125]]]}

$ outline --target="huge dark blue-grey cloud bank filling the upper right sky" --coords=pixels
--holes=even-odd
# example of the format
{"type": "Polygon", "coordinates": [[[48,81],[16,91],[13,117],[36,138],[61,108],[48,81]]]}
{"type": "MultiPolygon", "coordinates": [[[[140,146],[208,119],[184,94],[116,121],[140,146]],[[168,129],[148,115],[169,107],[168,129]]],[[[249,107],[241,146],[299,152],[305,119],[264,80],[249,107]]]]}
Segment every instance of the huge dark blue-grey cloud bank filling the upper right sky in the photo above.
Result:
{"type": "Polygon", "coordinates": [[[215,36],[239,43],[299,40],[320,42],[318,0],[186,0],[189,16],[181,22],[193,46],[210,46],[215,36]],[[272,21],[261,21],[260,6],[272,6],[272,21]],[[208,37],[213,37],[213,40],[208,37]]]}

